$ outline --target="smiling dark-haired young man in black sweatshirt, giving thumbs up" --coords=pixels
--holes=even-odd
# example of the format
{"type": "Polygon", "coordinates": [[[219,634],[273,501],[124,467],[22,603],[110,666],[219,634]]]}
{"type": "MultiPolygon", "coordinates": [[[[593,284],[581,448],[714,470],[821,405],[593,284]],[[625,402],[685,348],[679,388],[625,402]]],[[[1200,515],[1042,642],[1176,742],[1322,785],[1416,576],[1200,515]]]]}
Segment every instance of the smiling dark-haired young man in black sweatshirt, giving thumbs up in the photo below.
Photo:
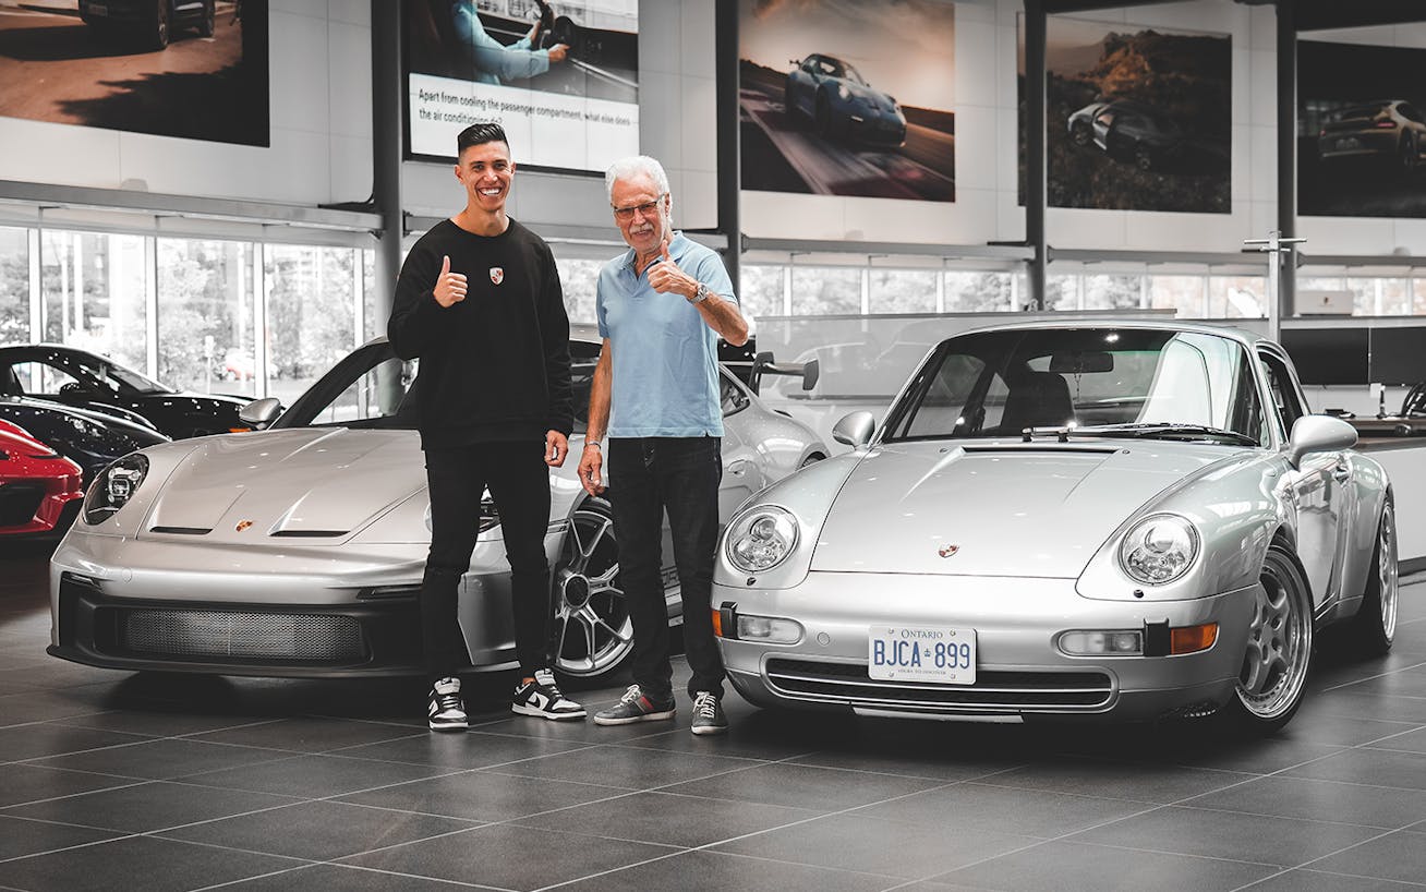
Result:
{"type": "Polygon", "coordinates": [[[456,672],[466,648],[456,618],[486,488],[511,562],[520,684],[512,709],[583,718],[549,668],[549,468],[573,425],[569,318],[549,245],[505,214],[515,163],[499,124],[456,137],[465,208],[431,227],[396,280],[386,333],[396,355],[421,357],[421,447],[431,491],[431,552],[421,631],[436,731],[466,728],[456,672]]]}

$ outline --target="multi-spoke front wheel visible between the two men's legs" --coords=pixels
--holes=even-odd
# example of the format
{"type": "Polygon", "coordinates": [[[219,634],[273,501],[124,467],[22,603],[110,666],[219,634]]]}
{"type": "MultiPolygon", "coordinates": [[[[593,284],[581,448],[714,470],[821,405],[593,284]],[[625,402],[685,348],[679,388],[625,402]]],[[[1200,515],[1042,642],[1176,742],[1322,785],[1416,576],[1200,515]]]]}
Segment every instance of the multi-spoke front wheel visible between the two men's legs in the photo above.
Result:
{"type": "Polygon", "coordinates": [[[580,681],[617,672],[633,655],[633,621],[609,502],[592,498],[575,510],[552,582],[555,671],[580,681]]]}

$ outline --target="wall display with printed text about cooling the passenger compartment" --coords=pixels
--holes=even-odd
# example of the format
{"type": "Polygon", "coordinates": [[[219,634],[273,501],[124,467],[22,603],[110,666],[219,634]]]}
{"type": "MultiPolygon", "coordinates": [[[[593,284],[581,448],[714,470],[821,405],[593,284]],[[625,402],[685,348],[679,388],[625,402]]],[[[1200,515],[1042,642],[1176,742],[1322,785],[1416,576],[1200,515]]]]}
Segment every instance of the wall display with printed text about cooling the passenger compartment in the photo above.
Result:
{"type": "Polygon", "coordinates": [[[404,0],[406,157],[476,121],[520,164],[603,173],[639,151],[639,0],[404,0]]]}

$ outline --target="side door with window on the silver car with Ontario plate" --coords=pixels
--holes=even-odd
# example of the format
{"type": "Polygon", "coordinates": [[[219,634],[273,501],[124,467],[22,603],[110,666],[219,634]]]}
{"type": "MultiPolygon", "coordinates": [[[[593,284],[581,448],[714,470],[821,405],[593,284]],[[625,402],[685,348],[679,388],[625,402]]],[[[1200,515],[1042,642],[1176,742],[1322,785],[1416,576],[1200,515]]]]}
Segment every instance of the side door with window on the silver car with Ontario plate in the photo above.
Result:
{"type": "MultiPolygon", "coordinates": [[[[1258,358],[1268,372],[1282,430],[1291,434],[1292,424],[1309,414],[1302,388],[1283,357],[1261,348],[1258,358]]],[[[1298,558],[1312,587],[1312,604],[1320,608],[1336,597],[1342,584],[1349,501],[1355,491],[1350,452],[1309,452],[1296,471],[1288,471],[1283,485],[1298,511],[1298,558]]]]}

